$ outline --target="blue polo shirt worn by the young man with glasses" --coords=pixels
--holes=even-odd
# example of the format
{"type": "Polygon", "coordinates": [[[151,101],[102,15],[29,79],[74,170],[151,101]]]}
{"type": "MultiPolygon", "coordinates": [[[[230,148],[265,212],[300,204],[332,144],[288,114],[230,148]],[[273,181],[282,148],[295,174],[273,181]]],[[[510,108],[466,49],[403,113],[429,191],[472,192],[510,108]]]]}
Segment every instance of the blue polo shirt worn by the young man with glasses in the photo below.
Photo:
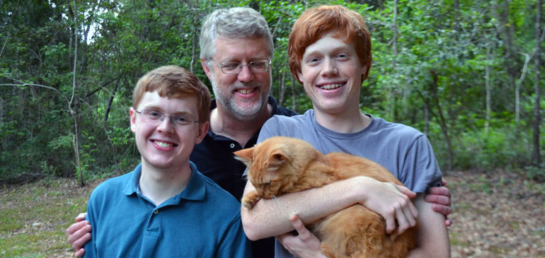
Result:
{"type": "Polygon", "coordinates": [[[249,257],[239,202],[190,167],[188,186],[159,206],[139,190],[142,165],[96,187],[85,257],[249,257]]]}

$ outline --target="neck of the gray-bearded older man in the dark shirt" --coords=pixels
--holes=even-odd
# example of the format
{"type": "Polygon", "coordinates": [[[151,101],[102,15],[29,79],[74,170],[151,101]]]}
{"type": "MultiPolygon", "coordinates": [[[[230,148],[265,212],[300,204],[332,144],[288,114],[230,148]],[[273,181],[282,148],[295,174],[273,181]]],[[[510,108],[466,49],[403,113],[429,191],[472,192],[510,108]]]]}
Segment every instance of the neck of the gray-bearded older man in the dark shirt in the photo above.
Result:
{"type": "Polygon", "coordinates": [[[210,112],[210,128],[214,134],[229,137],[242,147],[252,138],[270,118],[272,106],[267,104],[253,117],[240,119],[226,112],[220,105],[210,112]]]}

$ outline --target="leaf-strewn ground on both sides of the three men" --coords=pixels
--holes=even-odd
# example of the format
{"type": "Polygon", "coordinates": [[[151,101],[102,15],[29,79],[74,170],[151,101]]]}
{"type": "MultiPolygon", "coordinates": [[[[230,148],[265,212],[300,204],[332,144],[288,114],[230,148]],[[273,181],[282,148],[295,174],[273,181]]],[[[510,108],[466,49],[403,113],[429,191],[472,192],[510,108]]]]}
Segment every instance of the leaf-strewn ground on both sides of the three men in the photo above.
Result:
{"type": "MultiPolygon", "coordinates": [[[[454,210],[449,216],[453,221],[449,227],[452,257],[545,257],[545,184],[537,184],[503,170],[452,171],[447,172],[444,178],[452,192],[454,210]]],[[[28,251],[28,247],[23,247],[18,257],[73,256],[65,241],[64,228],[71,218],[84,211],[85,200],[98,182],[91,182],[84,188],[79,187],[76,180],[68,179],[42,184],[35,182],[18,187],[0,187],[3,200],[18,200],[3,201],[0,203],[1,209],[18,209],[21,206],[24,213],[25,209],[38,209],[33,205],[43,205],[48,200],[50,204],[47,206],[58,206],[59,214],[69,214],[64,214],[63,218],[51,215],[42,221],[30,215],[23,216],[26,220],[21,222],[24,228],[0,232],[0,245],[4,245],[0,247],[0,253],[10,248],[20,248],[6,246],[18,245],[16,240],[10,238],[35,234],[39,242],[36,245],[42,249],[38,247],[38,250],[28,251]],[[57,193],[54,197],[51,194],[53,190],[57,193]],[[46,196],[40,197],[40,193],[46,196]],[[32,198],[25,198],[28,194],[32,198]],[[71,208],[63,209],[64,204],[69,204],[71,208]],[[45,233],[50,237],[40,237],[45,233]]]]}

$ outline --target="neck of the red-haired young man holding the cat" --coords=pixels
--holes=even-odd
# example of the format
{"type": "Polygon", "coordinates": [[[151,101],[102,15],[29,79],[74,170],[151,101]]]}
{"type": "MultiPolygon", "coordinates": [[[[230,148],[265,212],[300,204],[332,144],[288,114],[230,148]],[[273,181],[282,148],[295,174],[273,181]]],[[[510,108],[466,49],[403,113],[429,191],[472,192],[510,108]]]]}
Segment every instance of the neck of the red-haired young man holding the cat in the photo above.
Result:
{"type": "Polygon", "coordinates": [[[314,110],[314,114],[316,115],[316,122],[322,127],[341,134],[362,131],[371,123],[371,118],[360,112],[359,107],[352,109],[350,112],[345,110],[338,113],[314,110]]]}

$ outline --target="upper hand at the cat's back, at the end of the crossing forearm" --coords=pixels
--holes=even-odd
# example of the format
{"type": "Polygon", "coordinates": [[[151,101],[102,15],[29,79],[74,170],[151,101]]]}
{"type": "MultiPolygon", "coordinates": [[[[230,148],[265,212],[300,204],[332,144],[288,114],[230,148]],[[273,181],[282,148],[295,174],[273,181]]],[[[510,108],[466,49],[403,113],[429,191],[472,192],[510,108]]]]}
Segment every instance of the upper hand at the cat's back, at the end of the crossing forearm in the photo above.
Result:
{"type": "Polygon", "coordinates": [[[379,182],[369,177],[364,177],[367,184],[358,187],[362,191],[363,200],[360,202],[386,221],[386,233],[390,234],[396,229],[397,235],[416,225],[418,211],[411,202],[416,197],[407,187],[390,182],[379,182]]]}

